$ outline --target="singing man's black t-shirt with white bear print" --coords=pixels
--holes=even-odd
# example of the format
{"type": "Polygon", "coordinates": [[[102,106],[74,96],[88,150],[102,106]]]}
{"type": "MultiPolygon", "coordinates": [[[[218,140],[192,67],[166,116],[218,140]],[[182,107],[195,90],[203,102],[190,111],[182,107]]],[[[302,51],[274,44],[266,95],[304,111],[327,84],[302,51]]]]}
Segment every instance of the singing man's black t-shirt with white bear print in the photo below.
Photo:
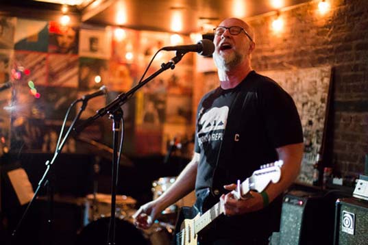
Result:
{"type": "MultiPolygon", "coordinates": [[[[212,187],[218,158],[216,172],[222,175],[216,179],[219,183],[213,185],[222,186],[236,183],[237,179],[244,181],[262,164],[278,160],[275,149],[300,142],[303,142],[302,125],[295,103],[272,79],[252,71],[235,88],[219,87],[208,92],[197,109],[195,152],[200,154],[195,183],[197,195],[212,187]],[[232,105],[238,93],[244,96],[240,107],[232,105]],[[221,148],[229,150],[227,155],[219,155],[224,136],[231,140],[224,141],[221,148]]],[[[280,202],[278,205],[280,207],[280,202]]],[[[261,213],[271,215],[273,207],[270,206],[261,213]]],[[[257,217],[257,213],[251,216],[257,217]]],[[[241,222],[241,217],[229,220],[240,219],[241,222]]]]}

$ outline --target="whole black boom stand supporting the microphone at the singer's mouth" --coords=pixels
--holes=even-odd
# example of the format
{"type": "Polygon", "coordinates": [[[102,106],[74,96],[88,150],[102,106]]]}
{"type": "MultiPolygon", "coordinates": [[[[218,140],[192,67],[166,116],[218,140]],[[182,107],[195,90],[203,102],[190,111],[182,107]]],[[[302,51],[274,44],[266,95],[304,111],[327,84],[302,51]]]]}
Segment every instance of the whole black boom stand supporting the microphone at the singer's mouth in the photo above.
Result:
{"type": "MultiPolygon", "coordinates": [[[[175,64],[182,60],[182,57],[187,52],[176,51],[175,57],[173,57],[169,62],[166,64],[162,63],[161,68],[157,70],[155,73],[147,77],[147,79],[138,83],[134,88],[129,90],[126,93],[119,94],[114,101],[106,105],[97,111],[95,116],[91,116],[86,120],[86,122],[81,123],[77,127],[75,127],[75,131],[79,133],[85,127],[93,123],[93,121],[97,120],[106,114],[110,114],[110,119],[113,120],[112,122],[112,133],[113,133],[113,155],[112,155],[112,183],[111,183],[111,218],[110,224],[108,229],[108,245],[115,245],[115,202],[116,202],[116,185],[117,185],[117,171],[119,170],[119,157],[118,157],[118,143],[119,143],[119,131],[123,130],[120,129],[120,121],[123,121],[123,110],[121,109],[121,105],[127,102],[128,99],[141,87],[143,87],[146,83],[160,75],[160,73],[164,72],[164,70],[168,70],[171,68],[173,70],[175,68],[175,64]]],[[[123,123],[124,125],[124,123],[123,123]]],[[[123,140],[121,141],[121,145],[123,144],[123,140]]]]}

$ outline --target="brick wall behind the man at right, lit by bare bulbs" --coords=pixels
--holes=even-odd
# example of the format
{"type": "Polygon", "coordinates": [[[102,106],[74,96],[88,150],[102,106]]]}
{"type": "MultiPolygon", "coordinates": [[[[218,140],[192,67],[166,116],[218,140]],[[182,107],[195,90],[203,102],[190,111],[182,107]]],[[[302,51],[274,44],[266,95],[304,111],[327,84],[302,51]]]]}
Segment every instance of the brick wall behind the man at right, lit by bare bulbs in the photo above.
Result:
{"type": "Polygon", "coordinates": [[[326,165],[343,175],[364,172],[368,153],[368,2],[331,0],[330,12],[319,1],[282,10],[284,28],[271,29],[276,14],[247,20],[256,33],[255,70],[334,67],[333,129],[326,165]],[[331,149],[332,148],[332,149],[331,149]]]}

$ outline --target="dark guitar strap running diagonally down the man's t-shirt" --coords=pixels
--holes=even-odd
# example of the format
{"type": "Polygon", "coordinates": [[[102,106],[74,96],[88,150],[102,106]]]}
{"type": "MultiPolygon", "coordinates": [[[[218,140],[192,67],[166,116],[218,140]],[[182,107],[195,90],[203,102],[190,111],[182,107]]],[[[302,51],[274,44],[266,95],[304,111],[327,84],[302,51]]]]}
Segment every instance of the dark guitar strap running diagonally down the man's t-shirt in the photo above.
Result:
{"type": "Polygon", "coordinates": [[[241,132],[241,125],[243,124],[243,109],[246,105],[246,96],[249,91],[247,88],[251,86],[251,83],[252,81],[245,81],[245,79],[241,82],[241,87],[230,105],[228,122],[226,123],[223,140],[220,143],[219,152],[217,153],[217,162],[212,175],[211,193],[214,196],[219,196],[221,194],[221,190],[223,190],[221,183],[230,177],[229,168],[224,168],[221,166],[221,163],[228,163],[233,160],[232,157],[234,156],[233,151],[236,138],[238,138],[238,133],[241,132]],[[239,120],[239,114],[241,120],[239,120]]]}

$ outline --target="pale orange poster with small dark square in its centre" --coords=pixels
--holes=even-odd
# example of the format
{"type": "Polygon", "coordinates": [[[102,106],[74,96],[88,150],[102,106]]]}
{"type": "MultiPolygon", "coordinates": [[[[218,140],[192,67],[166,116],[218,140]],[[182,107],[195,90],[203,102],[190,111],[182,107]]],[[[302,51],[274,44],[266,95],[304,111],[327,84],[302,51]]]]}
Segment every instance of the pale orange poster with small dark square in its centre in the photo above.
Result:
{"type": "Polygon", "coordinates": [[[111,31],[105,29],[80,29],[79,56],[110,59],[111,31]]]}

